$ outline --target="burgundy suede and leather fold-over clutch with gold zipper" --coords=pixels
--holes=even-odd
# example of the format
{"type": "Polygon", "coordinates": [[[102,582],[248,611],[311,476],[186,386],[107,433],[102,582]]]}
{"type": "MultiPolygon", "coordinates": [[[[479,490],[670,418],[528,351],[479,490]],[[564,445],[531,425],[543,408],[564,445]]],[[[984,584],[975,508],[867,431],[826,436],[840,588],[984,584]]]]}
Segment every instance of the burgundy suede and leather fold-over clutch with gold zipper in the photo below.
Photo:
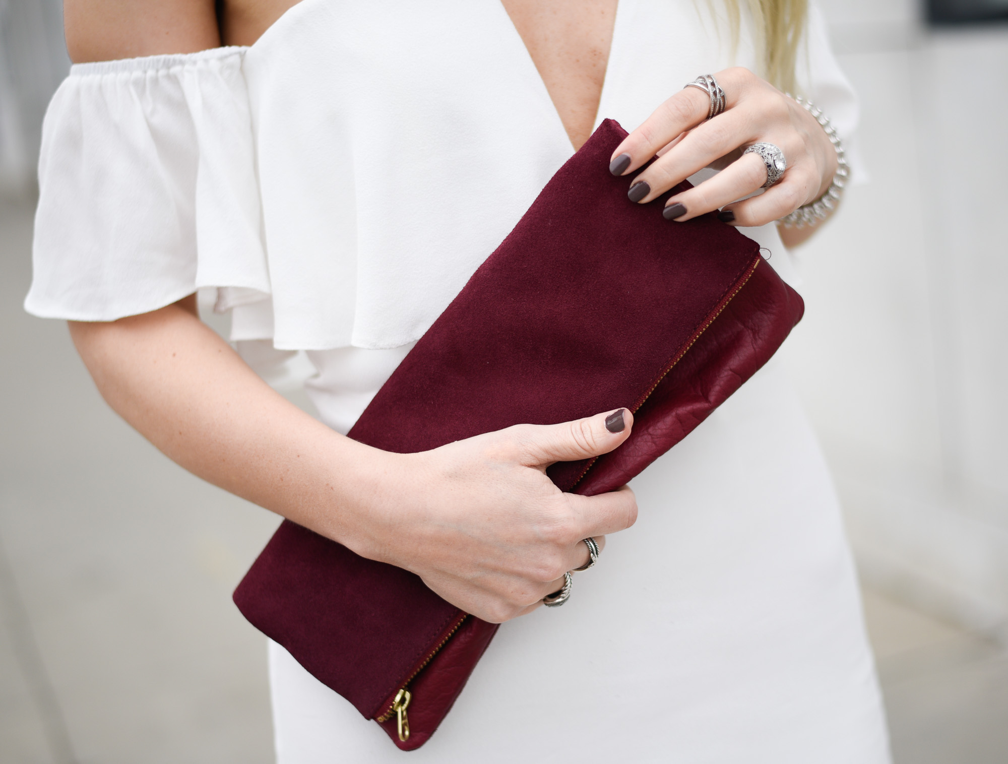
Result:
{"type": "MultiPolygon", "coordinates": [[[[607,120],[553,175],[351,437],[413,453],[626,406],[634,426],[619,449],[547,471],[593,495],[639,474],[766,363],[801,297],[716,216],[669,223],[669,195],[629,202],[630,178],[608,170],[625,136],[607,120]]],[[[498,628],[289,521],[234,599],[403,750],[437,729],[498,628]]]]}

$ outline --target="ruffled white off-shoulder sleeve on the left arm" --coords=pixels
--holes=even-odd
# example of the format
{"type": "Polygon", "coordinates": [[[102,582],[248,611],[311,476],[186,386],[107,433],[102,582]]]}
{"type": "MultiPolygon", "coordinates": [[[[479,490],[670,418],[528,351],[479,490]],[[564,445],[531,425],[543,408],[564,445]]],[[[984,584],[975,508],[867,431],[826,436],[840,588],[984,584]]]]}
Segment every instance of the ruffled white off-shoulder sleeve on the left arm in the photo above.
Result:
{"type": "Polygon", "coordinates": [[[114,321],[205,286],[269,294],[244,51],[71,70],[42,128],[29,312],[114,321]]]}

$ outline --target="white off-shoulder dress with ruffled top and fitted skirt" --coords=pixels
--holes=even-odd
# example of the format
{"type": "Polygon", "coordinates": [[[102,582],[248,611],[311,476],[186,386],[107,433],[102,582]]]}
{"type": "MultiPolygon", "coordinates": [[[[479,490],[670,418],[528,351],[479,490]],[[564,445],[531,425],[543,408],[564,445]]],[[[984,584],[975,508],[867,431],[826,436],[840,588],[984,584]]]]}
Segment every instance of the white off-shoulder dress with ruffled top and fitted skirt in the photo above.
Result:
{"type": "MultiPolygon", "coordinates": [[[[621,0],[599,121],[757,69],[745,13],[733,47],[712,5],[621,0]]],[[[798,75],[850,136],[814,9],[798,75]]],[[[216,290],[254,368],[306,354],[346,432],[573,151],[498,0],[303,0],[251,47],[73,68],[25,307],[112,321],[216,290]]],[[[743,231],[796,285],[775,227],[743,231]]],[[[633,488],[637,524],[564,608],[501,627],[416,752],[271,644],[279,762],[888,762],[837,499],[778,365],[633,488]]]]}

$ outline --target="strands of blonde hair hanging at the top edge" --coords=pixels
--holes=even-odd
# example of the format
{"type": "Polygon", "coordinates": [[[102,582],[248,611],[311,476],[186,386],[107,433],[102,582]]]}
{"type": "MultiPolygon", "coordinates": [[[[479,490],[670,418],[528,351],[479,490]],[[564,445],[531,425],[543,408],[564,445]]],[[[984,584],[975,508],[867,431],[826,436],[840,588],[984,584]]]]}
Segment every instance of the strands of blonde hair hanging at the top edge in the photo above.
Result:
{"type": "Polygon", "coordinates": [[[757,52],[762,53],[763,71],[757,74],[782,91],[793,93],[798,43],[805,27],[808,0],[725,0],[733,47],[739,41],[743,2],[752,16],[753,43],[757,52]]]}

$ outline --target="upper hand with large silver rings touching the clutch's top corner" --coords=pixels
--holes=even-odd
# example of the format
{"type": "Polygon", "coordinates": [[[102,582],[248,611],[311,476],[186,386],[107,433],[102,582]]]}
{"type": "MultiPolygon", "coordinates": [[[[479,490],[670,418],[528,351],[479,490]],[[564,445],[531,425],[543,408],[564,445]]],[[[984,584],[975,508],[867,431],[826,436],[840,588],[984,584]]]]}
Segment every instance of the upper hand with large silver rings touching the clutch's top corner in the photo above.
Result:
{"type": "Polygon", "coordinates": [[[815,118],[747,69],[727,69],[715,77],[725,91],[722,114],[708,120],[708,95],[698,88],[683,88],[613,152],[611,169],[619,175],[632,173],[661,154],[634,178],[630,199],[650,202],[709,166],[722,171],[671,197],[663,211],[666,218],[687,221],[728,205],[721,214],[725,222],[762,226],[822,197],[837,171],[837,152],[815,118]],[[766,182],[766,165],[759,154],[742,154],[759,142],[780,148],[787,169],[764,194],[737,202],[766,182]],[[629,163],[618,161],[623,154],[629,163]],[[673,209],[675,205],[681,211],[673,209]]]}

